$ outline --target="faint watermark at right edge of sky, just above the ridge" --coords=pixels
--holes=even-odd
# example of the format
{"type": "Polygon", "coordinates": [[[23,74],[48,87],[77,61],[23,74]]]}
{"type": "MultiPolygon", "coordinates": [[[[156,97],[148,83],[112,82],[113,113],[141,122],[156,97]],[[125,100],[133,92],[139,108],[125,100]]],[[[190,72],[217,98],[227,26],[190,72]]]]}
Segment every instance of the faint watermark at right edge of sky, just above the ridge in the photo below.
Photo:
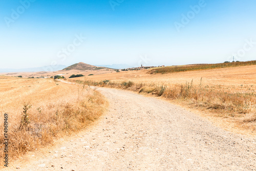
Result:
{"type": "Polygon", "coordinates": [[[256,41],[254,41],[252,38],[245,39],[243,48],[239,49],[236,53],[229,56],[228,60],[241,60],[241,58],[244,57],[247,52],[251,51],[255,47],[255,45],[256,41]]]}

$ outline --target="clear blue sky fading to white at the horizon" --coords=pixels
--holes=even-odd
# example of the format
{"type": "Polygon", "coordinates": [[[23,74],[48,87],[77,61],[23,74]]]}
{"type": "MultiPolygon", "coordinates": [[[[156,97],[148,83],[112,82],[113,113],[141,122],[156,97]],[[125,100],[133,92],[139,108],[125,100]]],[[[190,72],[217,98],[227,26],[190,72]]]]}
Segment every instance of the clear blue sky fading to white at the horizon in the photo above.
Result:
{"type": "Polygon", "coordinates": [[[255,0],[0,1],[0,68],[256,60],[255,9],[255,0]]]}

